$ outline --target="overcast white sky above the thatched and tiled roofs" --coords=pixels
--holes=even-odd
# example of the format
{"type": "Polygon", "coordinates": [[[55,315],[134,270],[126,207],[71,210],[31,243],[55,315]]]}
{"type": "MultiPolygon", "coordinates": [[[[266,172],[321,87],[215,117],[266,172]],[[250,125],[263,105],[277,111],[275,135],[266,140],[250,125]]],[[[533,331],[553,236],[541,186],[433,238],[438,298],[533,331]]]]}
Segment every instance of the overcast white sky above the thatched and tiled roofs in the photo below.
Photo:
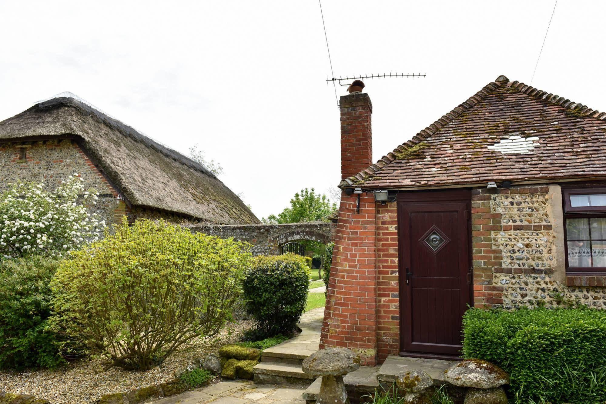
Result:
{"type": "MultiPolygon", "coordinates": [[[[335,75],[365,81],[376,161],[499,75],[530,84],[553,0],[324,0],[335,75]]],[[[606,110],[605,1],[559,0],[532,85],[606,110]]],[[[260,218],[340,179],[318,1],[4,1],[0,119],[72,91],[187,154],[260,218]]],[[[345,87],[337,87],[345,94],[345,87]]]]}

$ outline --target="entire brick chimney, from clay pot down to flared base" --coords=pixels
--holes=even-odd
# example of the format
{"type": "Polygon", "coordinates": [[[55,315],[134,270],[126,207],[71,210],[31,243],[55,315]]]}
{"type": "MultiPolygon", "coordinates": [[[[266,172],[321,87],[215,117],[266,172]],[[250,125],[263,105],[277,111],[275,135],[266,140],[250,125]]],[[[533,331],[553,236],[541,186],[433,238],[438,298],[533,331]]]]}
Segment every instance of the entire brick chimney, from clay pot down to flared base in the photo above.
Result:
{"type": "MultiPolygon", "coordinates": [[[[341,177],[372,164],[370,114],[364,83],[356,80],[341,97],[341,177]]],[[[373,193],[341,194],[320,348],[344,346],[363,366],[377,363],[376,203],[373,193]]]]}

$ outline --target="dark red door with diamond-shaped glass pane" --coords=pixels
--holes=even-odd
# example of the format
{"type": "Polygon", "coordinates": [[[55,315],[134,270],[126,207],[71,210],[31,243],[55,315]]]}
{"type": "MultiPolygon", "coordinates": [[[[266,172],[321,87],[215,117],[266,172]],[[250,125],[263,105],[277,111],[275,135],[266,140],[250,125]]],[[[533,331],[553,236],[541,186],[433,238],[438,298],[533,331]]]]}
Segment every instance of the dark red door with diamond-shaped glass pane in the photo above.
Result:
{"type": "Polygon", "coordinates": [[[468,191],[399,197],[402,353],[457,356],[470,303],[468,191]]]}

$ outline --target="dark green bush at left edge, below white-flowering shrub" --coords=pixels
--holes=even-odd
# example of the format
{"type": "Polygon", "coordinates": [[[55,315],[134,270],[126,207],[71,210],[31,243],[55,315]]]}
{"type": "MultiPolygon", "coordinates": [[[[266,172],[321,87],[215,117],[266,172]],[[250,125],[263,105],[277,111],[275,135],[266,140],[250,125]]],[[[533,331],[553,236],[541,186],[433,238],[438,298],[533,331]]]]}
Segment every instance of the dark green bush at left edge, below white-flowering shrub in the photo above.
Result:
{"type": "Polygon", "coordinates": [[[50,280],[58,267],[41,257],[0,261],[0,366],[55,368],[65,360],[55,333],[47,331],[51,314],[50,280]]]}

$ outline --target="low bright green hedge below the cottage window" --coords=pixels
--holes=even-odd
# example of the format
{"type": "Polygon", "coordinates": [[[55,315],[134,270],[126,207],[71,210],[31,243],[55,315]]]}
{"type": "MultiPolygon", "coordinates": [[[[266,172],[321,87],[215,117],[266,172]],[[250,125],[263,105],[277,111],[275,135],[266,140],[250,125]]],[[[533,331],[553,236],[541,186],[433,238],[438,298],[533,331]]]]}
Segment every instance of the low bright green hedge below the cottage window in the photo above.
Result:
{"type": "Polygon", "coordinates": [[[464,356],[510,373],[514,402],[606,400],[606,311],[470,309],[463,329],[464,356]]]}

